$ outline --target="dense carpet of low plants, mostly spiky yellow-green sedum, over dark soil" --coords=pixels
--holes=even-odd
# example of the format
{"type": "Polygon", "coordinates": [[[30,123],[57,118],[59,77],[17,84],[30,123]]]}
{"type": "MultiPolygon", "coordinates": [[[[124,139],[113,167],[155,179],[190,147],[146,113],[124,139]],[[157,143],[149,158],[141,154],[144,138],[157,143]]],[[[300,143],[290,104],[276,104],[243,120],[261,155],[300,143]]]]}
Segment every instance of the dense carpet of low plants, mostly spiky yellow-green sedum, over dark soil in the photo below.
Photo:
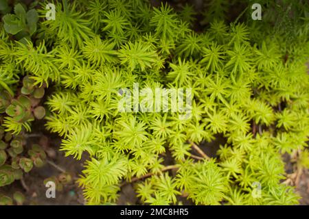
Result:
{"type": "MultiPolygon", "coordinates": [[[[261,1],[254,21],[253,2],[237,2],[249,6],[229,21],[222,0],[205,13],[143,0],[0,1],[0,186],[20,179],[2,173],[20,152],[12,142],[47,110],[60,150],[89,157],[77,179],[89,205],[117,203],[128,183],[139,204],[297,205],[282,155],[308,168],[308,4],[261,1]]],[[[39,146],[28,155],[16,169],[46,156],[39,146]]]]}

